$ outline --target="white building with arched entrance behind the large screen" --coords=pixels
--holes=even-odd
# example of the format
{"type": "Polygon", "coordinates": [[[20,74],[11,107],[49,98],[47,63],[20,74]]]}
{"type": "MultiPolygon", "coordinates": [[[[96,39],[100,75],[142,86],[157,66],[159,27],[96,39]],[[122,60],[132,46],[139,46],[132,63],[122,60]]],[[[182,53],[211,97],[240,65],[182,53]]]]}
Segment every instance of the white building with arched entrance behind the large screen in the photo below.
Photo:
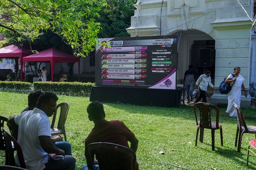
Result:
{"type": "MultiPolygon", "coordinates": [[[[212,71],[216,88],[239,66],[247,91],[255,96],[250,88],[256,83],[253,0],[138,0],[134,6],[137,9],[127,28],[131,37],[177,34],[177,82],[182,82],[190,64],[197,67],[200,57],[209,65],[196,71],[212,71]],[[210,52],[202,55],[200,48],[210,52]]],[[[242,92],[241,107],[250,107],[250,101],[242,92]]],[[[227,96],[214,91],[211,103],[227,104],[227,96]]]]}

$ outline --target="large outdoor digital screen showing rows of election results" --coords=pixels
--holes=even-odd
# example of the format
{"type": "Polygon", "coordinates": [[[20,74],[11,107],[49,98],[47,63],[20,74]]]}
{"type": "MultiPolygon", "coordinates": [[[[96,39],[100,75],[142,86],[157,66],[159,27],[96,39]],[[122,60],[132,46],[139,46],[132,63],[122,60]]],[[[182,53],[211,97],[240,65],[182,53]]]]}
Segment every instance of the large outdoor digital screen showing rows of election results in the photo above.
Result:
{"type": "Polygon", "coordinates": [[[98,40],[96,86],[176,89],[177,36],[98,40]]]}

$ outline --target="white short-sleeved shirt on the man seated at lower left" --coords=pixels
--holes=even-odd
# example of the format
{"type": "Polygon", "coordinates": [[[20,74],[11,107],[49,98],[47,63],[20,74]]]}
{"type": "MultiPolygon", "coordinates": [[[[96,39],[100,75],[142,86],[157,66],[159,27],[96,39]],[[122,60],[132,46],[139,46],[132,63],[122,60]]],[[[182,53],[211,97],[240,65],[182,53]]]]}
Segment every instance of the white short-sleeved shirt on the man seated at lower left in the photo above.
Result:
{"type": "Polygon", "coordinates": [[[48,153],[41,147],[39,136],[51,136],[48,116],[41,109],[34,108],[32,111],[20,113],[14,120],[19,126],[18,142],[27,169],[43,170],[44,164],[48,162],[48,153]]]}

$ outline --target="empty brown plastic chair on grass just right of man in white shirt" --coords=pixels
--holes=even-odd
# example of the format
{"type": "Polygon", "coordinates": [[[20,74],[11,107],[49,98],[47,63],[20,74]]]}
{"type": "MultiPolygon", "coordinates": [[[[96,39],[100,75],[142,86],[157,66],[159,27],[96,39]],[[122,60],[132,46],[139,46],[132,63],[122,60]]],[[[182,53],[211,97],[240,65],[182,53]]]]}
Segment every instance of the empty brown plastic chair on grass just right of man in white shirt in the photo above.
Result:
{"type": "Polygon", "coordinates": [[[65,132],[65,122],[67,119],[67,112],[69,110],[69,104],[67,102],[62,102],[56,106],[56,110],[52,117],[52,125],[51,125],[51,134],[59,135],[64,134],[65,141],[67,142],[66,132],[65,132]],[[54,128],[56,116],[59,114],[58,125],[57,128],[54,128]]]}

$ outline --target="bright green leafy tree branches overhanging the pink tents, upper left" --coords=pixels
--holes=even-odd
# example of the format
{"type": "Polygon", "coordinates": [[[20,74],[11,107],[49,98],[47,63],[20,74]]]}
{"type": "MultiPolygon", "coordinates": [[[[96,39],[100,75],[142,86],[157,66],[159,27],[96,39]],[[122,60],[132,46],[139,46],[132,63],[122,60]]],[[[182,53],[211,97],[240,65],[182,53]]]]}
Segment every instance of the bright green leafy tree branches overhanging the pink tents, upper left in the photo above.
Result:
{"type": "Polygon", "coordinates": [[[94,0],[0,0],[0,32],[13,44],[31,45],[51,31],[86,57],[101,29],[99,11],[94,0]]]}

